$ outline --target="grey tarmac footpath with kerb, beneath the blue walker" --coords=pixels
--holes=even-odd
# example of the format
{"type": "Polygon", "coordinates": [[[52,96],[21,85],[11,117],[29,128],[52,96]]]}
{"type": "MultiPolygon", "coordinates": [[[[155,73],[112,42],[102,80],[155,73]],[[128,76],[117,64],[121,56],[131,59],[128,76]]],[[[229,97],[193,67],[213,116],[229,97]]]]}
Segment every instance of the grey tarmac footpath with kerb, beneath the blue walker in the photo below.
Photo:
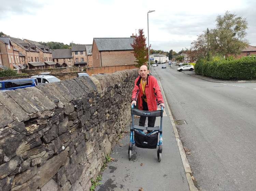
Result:
{"type": "MultiPolygon", "coordinates": [[[[159,80],[158,83],[161,86],[159,80]]],[[[112,160],[102,173],[96,191],[197,191],[166,100],[165,106],[161,162],[157,160],[157,149],[135,145],[132,158],[128,159],[130,125],[127,125],[127,133],[114,147],[112,160]]],[[[135,124],[138,123],[139,118],[135,117],[135,124]]],[[[155,126],[158,125],[160,117],[156,118],[155,126]]]]}

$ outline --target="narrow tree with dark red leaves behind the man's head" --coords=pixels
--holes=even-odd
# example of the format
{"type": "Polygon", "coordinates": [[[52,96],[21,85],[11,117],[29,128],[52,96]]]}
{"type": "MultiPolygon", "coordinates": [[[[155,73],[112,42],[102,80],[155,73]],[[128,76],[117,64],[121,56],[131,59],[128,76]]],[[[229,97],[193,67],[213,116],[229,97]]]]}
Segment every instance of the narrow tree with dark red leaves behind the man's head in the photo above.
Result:
{"type": "Polygon", "coordinates": [[[131,44],[134,57],[137,59],[135,61],[137,62],[136,67],[138,68],[148,61],[148,48],[146,48],[146,38],[143,33],[143,29],[139,29],[139,35],[136,34],[133,44],[131,44]]]}

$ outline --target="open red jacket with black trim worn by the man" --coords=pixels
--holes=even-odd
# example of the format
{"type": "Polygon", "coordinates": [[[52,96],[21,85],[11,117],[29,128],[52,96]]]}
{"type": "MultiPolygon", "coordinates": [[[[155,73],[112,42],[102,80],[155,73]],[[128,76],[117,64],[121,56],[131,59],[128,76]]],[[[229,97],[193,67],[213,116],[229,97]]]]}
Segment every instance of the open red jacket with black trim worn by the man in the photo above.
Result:
{"type": "MultiPolygon", "coordinates": [[[[132,90],[131,101],[136,100],[138,109],[142,110],[142,87],[141,76],[136,78],[134,88],[132,90]]],[[[145,85],[145,95],[147,97],[148,111],[157,110],[157,105],[163,103],[163,97],[158,86],[157,80],[154,76],[147,75],[147,83],[145,85]]]]}

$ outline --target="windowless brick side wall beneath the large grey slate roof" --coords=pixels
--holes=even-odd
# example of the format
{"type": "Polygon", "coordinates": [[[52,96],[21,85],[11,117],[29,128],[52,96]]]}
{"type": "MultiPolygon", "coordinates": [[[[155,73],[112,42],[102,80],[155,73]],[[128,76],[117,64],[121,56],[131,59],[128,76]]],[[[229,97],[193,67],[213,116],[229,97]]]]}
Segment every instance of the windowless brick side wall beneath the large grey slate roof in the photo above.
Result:
{"type": "Polygon", "coordinates": [[[102,66],[133,65],[136,60],[131,50],[101,51],[102,66]]]}

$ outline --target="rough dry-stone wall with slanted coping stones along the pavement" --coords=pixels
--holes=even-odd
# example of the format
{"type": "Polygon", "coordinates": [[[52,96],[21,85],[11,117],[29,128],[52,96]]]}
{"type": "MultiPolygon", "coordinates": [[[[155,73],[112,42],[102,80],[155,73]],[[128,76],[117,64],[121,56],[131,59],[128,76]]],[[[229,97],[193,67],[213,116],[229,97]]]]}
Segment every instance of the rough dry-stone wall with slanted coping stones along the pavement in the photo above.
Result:
{"type": "Polygon", "coordinates": [[[130,122],[137,69],[0,93],[0,190],[88,191],[130,122]]]}

